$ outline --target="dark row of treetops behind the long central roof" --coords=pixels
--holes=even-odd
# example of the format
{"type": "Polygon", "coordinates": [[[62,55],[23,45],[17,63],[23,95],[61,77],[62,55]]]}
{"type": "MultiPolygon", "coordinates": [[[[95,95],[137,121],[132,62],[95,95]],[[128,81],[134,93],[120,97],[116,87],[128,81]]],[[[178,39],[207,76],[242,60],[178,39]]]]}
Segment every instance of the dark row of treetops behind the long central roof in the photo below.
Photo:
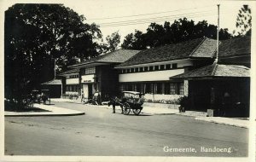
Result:
{"type": "MultiPolygon", "coordinates": [[[[202,37],[216,39],[217,26],[208,24],[206,20],[195,24],[194,20],[183,18],[174,20],[172,24],[166,21],[163,26],[151,23],[146,33],[136,31],[135,34],[130,33],[125,36],[121,47],[123,49],[147,49],[202,37]],[[136,34],[137,37],[135,37],[136,34]]],[[[229,38],[231,34],[228,29],[220,29],[219,39],[229,38]]]]}

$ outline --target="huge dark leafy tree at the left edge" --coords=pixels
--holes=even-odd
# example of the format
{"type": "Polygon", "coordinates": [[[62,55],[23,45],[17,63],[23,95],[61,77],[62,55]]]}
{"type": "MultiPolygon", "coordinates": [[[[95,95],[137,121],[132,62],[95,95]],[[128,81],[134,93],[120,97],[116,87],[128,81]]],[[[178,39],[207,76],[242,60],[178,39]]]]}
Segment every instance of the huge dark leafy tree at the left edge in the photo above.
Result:
{"type": "Polygon", "coordinates": [[[84,15],[61,4],[15,4],[5,12],[5,97],[22,95],[79,59],[98,55],[102,33],[95,24],[84,24],[84,15]]]}

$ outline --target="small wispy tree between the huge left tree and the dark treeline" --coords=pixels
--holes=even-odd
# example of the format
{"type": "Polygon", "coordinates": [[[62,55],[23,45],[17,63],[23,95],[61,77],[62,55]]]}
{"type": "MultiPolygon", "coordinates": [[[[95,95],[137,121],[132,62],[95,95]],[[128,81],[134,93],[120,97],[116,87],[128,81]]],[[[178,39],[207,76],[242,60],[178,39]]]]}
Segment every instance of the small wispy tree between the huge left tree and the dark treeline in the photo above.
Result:
{"type": "Polygon", "coordinates": [[[101,44],[100,53],[108,53],[118,49],[120,38],[119,32],[113,32],[111,35],[108,35],[106,38],[107,43],[101,44]]]}

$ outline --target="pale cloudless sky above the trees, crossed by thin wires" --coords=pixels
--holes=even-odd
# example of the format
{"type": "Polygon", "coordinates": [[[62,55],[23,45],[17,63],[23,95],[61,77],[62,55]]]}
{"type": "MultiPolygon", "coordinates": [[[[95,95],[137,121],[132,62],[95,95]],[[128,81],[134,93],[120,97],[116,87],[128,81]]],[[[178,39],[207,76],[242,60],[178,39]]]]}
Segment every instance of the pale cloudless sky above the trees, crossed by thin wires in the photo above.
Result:
{"type": "Polygon", "coordinates": [[[151,22],[164,24],[179,18],[188,20],[207,20],[209,24],[218,25],[218,7],[220,28],[236,29],[236,15],[242,4],[252,1],[209,1],[209,0],[55,0],[53,1],[7,1],[3,0],[3,9],[15,3],[63,3],[78,14],[84,14],[85,23],[96,23],[100,26],[103,38],[113,32],[119,32],[121,41],[135,30],[146,32],[151,22]]]}

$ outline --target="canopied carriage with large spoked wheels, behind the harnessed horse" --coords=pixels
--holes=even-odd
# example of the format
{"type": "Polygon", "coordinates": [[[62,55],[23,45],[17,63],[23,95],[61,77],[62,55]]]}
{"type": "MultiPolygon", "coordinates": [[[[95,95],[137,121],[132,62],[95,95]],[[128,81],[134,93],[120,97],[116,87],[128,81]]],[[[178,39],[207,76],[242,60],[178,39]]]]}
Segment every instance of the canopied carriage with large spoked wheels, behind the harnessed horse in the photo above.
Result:
{"type": "Polygon", "coordinates": [[[120,101],[121,107],[123,107],[123,112],[128,115],[130,111],[135,115],[139,115],[143,109],[143,93],[137,91],[123,91],[120,101]]]}

